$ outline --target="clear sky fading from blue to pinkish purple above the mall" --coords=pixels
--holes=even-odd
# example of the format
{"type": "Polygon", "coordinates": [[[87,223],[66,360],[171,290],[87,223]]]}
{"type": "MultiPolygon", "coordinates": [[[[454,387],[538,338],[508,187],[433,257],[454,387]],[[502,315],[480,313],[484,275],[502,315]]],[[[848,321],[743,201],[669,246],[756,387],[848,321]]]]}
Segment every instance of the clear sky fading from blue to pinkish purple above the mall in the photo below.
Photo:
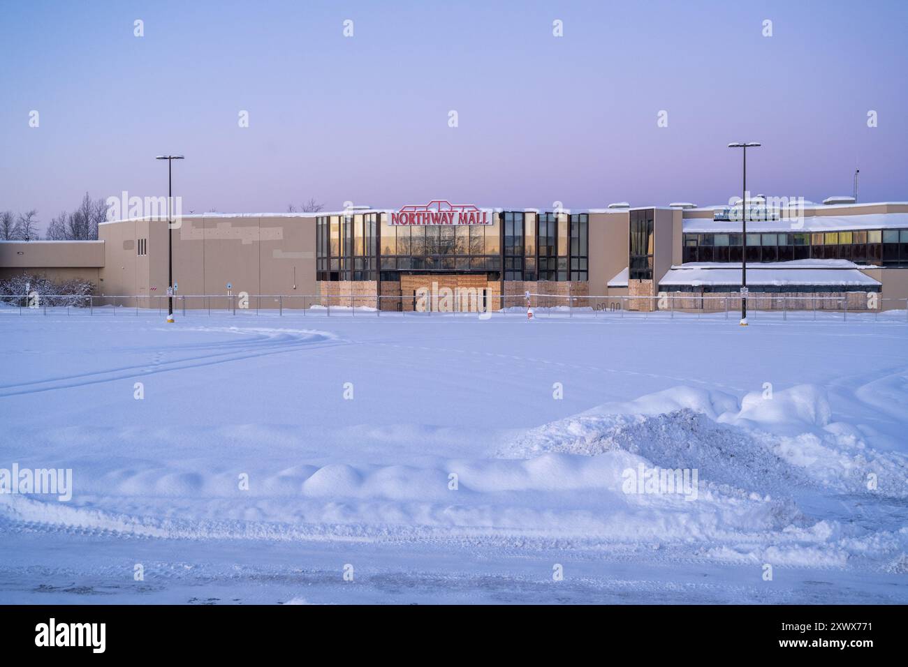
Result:
{"type": "Polygon", "coordinates": [[[722,203],[741,176],[725,144],[741,140],[764,144],[748,154],[754,192],[851,194],[859,167],[861,201],[908,200],[904,2],[5,0],[0,12],[0,210],[36,208],[42,226],[84,191],[165,193],[162,152],[186,155],[174,194],[196,212],[311,197],[331,210],[722,203]]]}

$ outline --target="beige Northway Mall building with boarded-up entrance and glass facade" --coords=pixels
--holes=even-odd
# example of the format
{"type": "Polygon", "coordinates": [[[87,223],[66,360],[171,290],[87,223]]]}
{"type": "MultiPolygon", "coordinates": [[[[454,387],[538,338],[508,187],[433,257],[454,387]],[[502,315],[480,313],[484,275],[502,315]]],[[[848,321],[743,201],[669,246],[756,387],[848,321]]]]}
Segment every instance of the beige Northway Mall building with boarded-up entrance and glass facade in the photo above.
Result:
{"type": "MultiPolygon", "coordinates": [[[[429,201],[394,211],[183,215],[172,233],[178,296],[311,297],[283,299],[283,308],[420,309],[420,289],[475,293],[489,309],[524,306],[526,292],[542,307],[628,297],[626,309],[658,309],[667,294],[680,298],[672,308],[738,308],[742,260],[753,308],[811,308],[819,296],[820,308],[846,299],[849,309],[893,309],[905,308],[893,299],[908,299],[908,202],[840,197],[795,207],[758,196],[745,207],[536,211],[429,201]]],[[[0,241],[0,280],[78,277],[98,295],[156,307],[144,298],[166,294],[167,234],[167,221],[150,217],[105,222],[96,241],[0,241]]]]}

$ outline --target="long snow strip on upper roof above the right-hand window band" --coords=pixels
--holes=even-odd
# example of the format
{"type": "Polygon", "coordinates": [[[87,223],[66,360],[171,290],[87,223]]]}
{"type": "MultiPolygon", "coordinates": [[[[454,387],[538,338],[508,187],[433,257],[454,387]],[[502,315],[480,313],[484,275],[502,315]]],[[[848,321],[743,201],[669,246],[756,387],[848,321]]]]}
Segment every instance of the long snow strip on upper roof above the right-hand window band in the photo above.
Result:
{"type": "MultiPolygon", "coordinates": [[[[739,221],[714,221],[710,218],[686,218],[686,233],[741,231],[739,221]]],[[[864,213],[863,215],[805,215],[800,220],[747,221],[747,231],[840,231],[891,230],[908,228],[908,213],[864,213]]]]}

